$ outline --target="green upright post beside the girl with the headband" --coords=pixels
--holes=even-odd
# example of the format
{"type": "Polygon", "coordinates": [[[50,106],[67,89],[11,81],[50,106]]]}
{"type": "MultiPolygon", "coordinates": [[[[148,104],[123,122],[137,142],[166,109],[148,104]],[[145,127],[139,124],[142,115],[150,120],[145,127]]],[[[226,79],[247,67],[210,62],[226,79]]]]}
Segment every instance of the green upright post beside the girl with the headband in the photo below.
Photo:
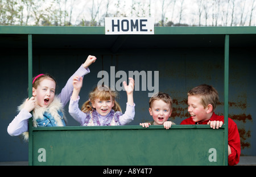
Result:
{"type": "MultiPolygon", "coordinates": [[[[32,97],[32,35],[28,35],[28,97],[32,97]]],[[[28,121],[28,165],[32,165],[32,118],[28,121]]]]}

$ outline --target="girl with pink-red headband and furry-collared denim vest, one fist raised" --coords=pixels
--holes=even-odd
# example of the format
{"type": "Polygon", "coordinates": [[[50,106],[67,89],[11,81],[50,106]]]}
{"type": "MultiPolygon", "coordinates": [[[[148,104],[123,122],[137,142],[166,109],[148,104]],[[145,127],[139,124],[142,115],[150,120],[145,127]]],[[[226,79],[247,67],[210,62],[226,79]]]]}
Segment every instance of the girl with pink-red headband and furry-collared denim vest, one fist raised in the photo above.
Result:
{"type": "Polygon", "coordinates": [[[19,113],[9,124],[7,132],[11,136],[22,134],[28,140],[28,119],[33,117],[34,127],[65,126],[64,106],[68,103],[72,91],[72,80],[75,75],[84,77],[90,72],[88,66],[96,61],[96,57],[88,56],[84,64],[68,79],[68,82],[55,96],[56,81],[49,74],[39,74],[32,81],[32,97],[24,100],[18,107],[19,113]],[[30,113],[32,111],[32,114],[30,113]]]}

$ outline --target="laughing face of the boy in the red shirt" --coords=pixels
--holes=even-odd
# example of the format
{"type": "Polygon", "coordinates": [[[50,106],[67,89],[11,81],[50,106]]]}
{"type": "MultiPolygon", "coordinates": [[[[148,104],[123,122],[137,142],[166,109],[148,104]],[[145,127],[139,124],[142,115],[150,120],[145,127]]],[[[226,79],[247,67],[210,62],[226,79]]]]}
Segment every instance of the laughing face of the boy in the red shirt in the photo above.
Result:
{"type": "Polygon", "coordinates": [[[188,112],[190,113],[193,121],[205,121],[208,120],[208,108],[204,108],[201,104],[200,96],[192,95],[188,96],[188,112]]]}

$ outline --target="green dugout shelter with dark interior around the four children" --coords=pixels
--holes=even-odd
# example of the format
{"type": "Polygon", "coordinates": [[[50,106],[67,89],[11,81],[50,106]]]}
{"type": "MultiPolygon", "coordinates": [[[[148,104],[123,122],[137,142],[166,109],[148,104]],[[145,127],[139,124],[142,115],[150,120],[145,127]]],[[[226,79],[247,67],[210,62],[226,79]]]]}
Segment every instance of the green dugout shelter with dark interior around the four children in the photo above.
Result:
{"type": "MultiPolygon", "coordinates": [[[[139,85],[134,91],[135,117],[129,125],[81,127],[68,115],[68,106],[65,107],[69,121],[67,127],[35,128],[30,120],[29,165],[228,165],[228,116],[232,118],[243,113],[245,115],[239,119],[233,118],[240,127],[244,154],[247,148],[250,149],[249,154],[256,155],[251,150],[255,140],[250,139],[255,129],[251,117],[256,116],[255,113],[245,113],[244,107],[240,112],[240,108],[232,109],[231,114],[229,112],[229,102],[241,103],[239,96],[230,101],[230,56],[234,56],[234,61],[237,61],[237,54],[248,61],[254,58],[252,64],[240,66],[244,70],[253,67],[256,27],[155,27],[154,31],[154,35],[105,35],[104,27],[0,27],[2,72],[15,75],[11,79],[11,88],[2,88],[3,92],[9,89],[15,92],[11,98],[3,96],[3,100],[14,99],[11,107],[10,104],[9,107],[1,106],[1,109],[9,112],[1,114],[5,126],[13,120],[15,108],[22,99],[27,94],[32,95],[34,75],[52,74],[56,77],[60,92],[89,54],[95,55],[97,61],[89,67],[91,73],[85,76],[80,104],[88,99],[89,91],[101,79],[97,73],[102,70],[110,73],[110,66],[115,66],[115,73],[144,71],[147,79],[141,75],[138,81],[135,78],[135,84],[148,84],[151,77],[148,71],[159,72],[159,75],[151,77],[154,81],[151,87],[158,84],[158,88],[150,90],[147,85],[143,90],[143,86],[139,85]],[[13,67],[18,71],[21,67],[21,73],[7,69],[10,65],[15,65],[13,67]],[[159,77],[158,83],[154,77],[159,77]],[[189,117],[187,91],[201,83],[213,85],[220,94],[221,104],[216,112],[225,116],[225,124],[220,129],[210,129],[209,125],[179,125],[189,117]],[[169,130],[162,126],[139,126],[139,123],[152,120],[148,113],[148,93],[153,91],[167,92],[174,100],[171,120],[176,125],[169,130]],[[245,135],[242,130],[247,135],[251,133],[249,139],[243,139],[245,135]],[[247,141],[250,141],[250,148],[246,147],[247,141]]],[[[237,65],[232,64],[232,67],[236,69],[237,65]]],[[[1,77],[4,77],[3,73],[1,77]]],[[[231,77],[232,87],[236,86],[236,79],[233,80],[233,75],[231,77]]],[[[250,77],[247,80],[238,78],[237,82],[250,82],[250,77]]],[[[116,82],[119,78],[114,75],[109,79],[116,82]]],[[[243,91],[253,90],[249,84],[245,84],[243,88],[232,90],[232,96],[243,91]]],[[[118,102],[125,110],[126,93],[119,92],[118,102]]],[[[255,98],[255,94],[252,96],[255,98]]],[[[246,103],[250,105],[251,101],[247,99],[246,103]]],[[[238,107],[242,106],[239,104],[238,107]]],[[[3,137],[6,144],[11,142],[10,138],[15,137],[3,137]]],[[[23,142],[19,143],[24,145],[23,142]]],[[[13,145],[17,142],[10,144],[12,152],[16,151],[13,145]]],[[[3,159],[11,157],[1,156],[3,159]]]]}

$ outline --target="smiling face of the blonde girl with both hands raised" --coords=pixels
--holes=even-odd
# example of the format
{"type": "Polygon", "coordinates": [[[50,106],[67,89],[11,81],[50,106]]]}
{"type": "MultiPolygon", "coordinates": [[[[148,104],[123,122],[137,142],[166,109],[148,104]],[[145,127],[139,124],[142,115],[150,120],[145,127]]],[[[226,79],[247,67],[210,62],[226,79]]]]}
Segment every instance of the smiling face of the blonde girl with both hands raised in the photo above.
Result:
{"type": "Polygon", "coordinates": [[[110,100],[100,100],[97,98],[92,102],[92,106],[101,116],[106,116],[114,106],[114,101],[112,98],[110,100]]]}

